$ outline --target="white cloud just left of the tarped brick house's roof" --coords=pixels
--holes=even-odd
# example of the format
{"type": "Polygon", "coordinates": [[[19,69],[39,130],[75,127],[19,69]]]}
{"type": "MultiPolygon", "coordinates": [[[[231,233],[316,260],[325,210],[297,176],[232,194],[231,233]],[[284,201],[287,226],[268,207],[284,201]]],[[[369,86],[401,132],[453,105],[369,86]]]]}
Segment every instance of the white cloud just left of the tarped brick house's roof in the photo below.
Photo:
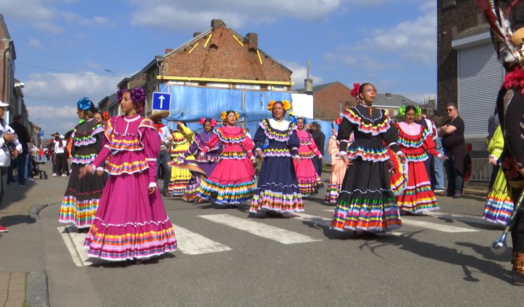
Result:
{"type": "Polygon", "coordinates": [[[70,106],[80,97],[88,96],[97,104],[105,96],[116,91],[121,76],[99,76],[69,73],[36,73],[25,82],[26,101],[38,101],[42,105],[70,106]]]}

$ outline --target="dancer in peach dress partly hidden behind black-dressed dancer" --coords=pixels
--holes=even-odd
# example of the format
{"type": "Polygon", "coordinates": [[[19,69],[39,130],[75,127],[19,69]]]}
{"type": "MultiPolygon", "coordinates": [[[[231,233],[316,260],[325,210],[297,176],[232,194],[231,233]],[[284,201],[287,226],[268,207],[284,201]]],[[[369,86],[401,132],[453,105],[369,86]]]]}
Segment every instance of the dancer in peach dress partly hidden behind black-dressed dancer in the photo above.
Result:
{"type": "MultiPolygon", "coordinates": [[[[339,117],[335,120],[335,124],[340,126],[342,122],[342,117],[339,117]]],[[[336,139],[338,133],[331,125],[331,137],[328,142],[328,154],[331,156],[331,177],[329,180],[328,189],[326,189],[326,195],[324,198],[324,203],[328,205],[333,205],[336,203],[337,198],[339,198],[340,191],[342,190],[342,182],[344,181],[344,175],[346,174],[347,165],[344,163],[344,160],[339,155],[340,141],[336,139]]],[[[350,136],[348,145],[351,145],[353,142],[353,134],[350,136]]]]}

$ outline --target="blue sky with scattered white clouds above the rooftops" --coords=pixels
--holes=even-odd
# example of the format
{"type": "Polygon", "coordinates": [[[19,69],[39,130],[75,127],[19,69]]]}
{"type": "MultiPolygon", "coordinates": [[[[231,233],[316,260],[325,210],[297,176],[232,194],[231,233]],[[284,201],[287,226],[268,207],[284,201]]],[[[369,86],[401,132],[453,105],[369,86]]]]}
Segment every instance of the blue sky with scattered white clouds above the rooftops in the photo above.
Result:
{"type": "Polygon", "coordinates": [[[372,82],[416,102],[436,96],[435,0],[0,0],[29,119],[49,135],[78,122],[166,48],[220,18],[292,71],[303,87],[372,82]]]}

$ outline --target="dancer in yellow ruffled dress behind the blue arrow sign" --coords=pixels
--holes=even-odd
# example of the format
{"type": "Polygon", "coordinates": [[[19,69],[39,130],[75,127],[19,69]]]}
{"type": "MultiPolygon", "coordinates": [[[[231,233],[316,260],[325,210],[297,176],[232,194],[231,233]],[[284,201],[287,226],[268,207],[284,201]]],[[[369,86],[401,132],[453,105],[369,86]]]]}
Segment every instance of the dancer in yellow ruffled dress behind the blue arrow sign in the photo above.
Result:
{"type": "MultiPolygon", "coordinates": [[[[170,154],[171,159],[182,159],[184,158],[184,152],[189,149],[189,145],[193,141],[193,131],[185,126],[182,122],[177,123],[177,130],[172,131],[170,154]]],[[[188,156],[186,160],[194,160],[193,156],[188,156]]],[[[182,196],[191,180],[191,172],[187,169],[172,167],[171,168],[171,179],[169,180],[169,187],[167,194],[169,196],[182,196]]]]}

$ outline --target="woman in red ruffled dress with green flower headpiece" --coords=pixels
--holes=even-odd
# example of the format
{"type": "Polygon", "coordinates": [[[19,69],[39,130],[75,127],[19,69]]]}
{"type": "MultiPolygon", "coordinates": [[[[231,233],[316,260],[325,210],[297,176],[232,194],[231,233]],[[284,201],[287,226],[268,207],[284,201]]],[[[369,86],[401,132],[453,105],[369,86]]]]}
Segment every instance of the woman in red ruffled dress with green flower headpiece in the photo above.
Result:
{"type": "Polygon", "coordinates": [[[398,130],[397,143],[408,160],[408,185],[397,196],[397,205],[401,212],[411,214],[439,209],[424,161],[428,159],[426,152],[445,160],[435,149],[436,144],[431,139],[432,131],[415,123],[421,112],[420,107],[400,106],[399,114],[403,116],[403,121],[395,124],[398,130]]]}

